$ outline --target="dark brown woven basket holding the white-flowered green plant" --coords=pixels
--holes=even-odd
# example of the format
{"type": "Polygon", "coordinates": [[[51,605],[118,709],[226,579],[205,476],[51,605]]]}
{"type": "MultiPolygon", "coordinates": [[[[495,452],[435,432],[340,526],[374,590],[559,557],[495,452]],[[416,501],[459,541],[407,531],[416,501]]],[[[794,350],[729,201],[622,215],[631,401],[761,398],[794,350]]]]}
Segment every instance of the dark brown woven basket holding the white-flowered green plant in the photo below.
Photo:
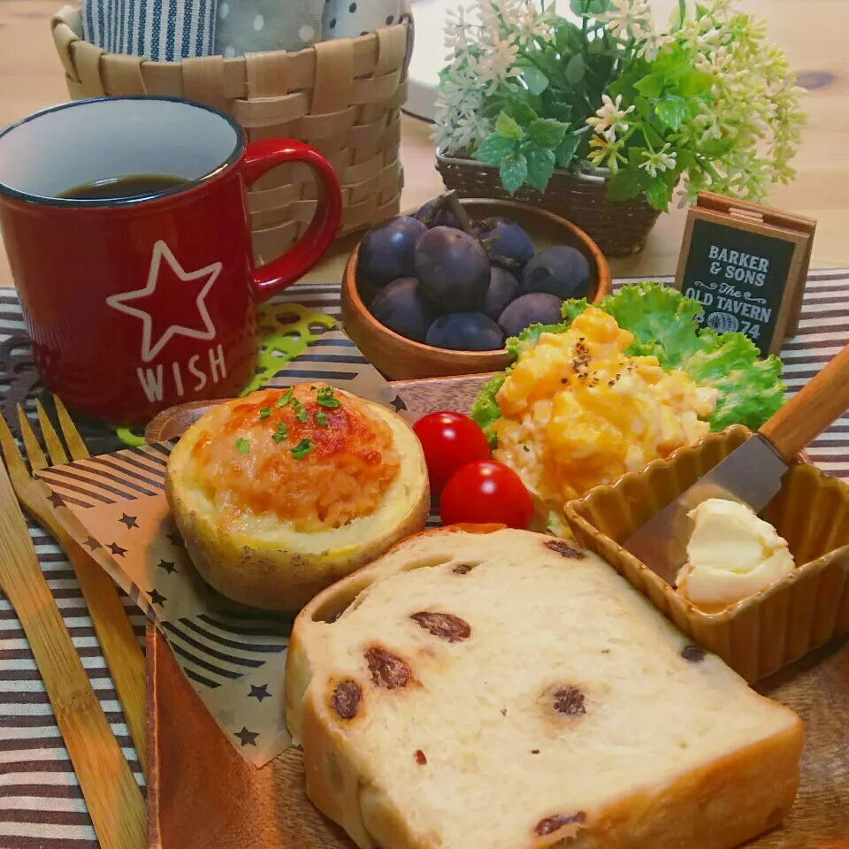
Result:
{"type": "Polygon", "coordinates": [[[460,197],[497,197],[524,201],[555,212],[580,227],[607,256],[631,256],[646,247],[660,212],[643,198],[611,201],[607,181],[597,174],[557,169],[544,195],[522,187],[509,195],[498,168],[474,159],[446,157],[437,151],[436,164],[447,189],[460,197]]]}

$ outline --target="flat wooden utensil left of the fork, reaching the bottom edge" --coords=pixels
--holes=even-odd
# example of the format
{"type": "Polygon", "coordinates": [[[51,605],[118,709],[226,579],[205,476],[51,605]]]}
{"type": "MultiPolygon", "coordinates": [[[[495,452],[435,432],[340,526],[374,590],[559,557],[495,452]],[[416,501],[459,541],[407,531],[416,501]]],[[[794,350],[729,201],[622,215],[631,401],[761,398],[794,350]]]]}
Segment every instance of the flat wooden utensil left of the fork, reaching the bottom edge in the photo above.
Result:
{"type": "MultiPolygon", "coordinates": [[[[5,423],[3,427],[8,431],[5,423]]],[[[7,457],[17,455],[17,462],[23,468],[17,449],[11,452],[4,445],[4,450],[7,457]]],[[[100,845],[103,849],[142,849],[146,845],[142,792],[112,734],[44,579],[3,463],[0,463],[0,585],[27,634],[100,845]]]]}

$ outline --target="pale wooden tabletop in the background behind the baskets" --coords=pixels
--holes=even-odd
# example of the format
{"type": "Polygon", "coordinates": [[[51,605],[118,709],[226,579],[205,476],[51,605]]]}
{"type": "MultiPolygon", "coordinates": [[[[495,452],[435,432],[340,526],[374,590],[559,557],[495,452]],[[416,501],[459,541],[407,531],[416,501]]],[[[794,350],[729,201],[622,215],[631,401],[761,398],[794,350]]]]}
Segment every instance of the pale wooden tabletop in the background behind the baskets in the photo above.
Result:
{"type": "MultiPolygon", "coordinates": [[[[0,0],[0,126],[67,99],[61,65],[50,36],[50,15],[62,0],[0,0]]],[[[663,5],[663,4],[661,4],[663,5]]],[[[769,203],[816,218],[813,267],[849,266],[849,0],[741,0],[739,6],[769,17],[773,40],[788,52],[808,89],[808,124],[796,157],[797,180],[778,187],[769,203]]],[[[404,207],[439,194],[430,126],[404,119],[404,207]]],[[[675,272],[684,210],[662,216],[646,250],[611,266],[616,276],[675,272]]],[[[310,278],[340,279],[348,244],[338,244],[310,278]]],[[[0,286],[11,286],[0,247],[0,286]]]]}

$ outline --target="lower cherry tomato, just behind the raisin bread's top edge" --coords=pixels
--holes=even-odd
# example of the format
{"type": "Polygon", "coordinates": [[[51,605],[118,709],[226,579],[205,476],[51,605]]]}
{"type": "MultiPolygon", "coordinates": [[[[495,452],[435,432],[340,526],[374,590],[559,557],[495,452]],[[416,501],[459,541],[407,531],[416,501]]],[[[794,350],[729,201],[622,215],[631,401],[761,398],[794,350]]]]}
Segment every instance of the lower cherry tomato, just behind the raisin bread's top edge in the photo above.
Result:
{"type": "Polygon", "coordinates": [[[468,463],[455,471],[440,498],[442,524],[494,523],[524,529],[532,516],[533,499],[522,478],[493,460],[468,463]]]}

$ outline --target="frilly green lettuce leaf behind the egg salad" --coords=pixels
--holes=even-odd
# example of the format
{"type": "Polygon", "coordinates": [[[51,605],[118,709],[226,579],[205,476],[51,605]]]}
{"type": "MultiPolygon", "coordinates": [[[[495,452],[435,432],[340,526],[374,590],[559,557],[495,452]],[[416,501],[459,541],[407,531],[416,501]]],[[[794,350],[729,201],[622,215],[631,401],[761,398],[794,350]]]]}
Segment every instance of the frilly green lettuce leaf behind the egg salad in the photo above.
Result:
{"type": "MultiPolygon", "coordinates": [[[[564,333],[586,308],[586,299],[563,304],[562,325],[532,325],[507,342],[515,361],[533,348],[541,333],[564,333]]],[[[711,430],[730,424],[746,424],[757,430],[784,403],[781,361],[776,356],[760,359],[758,349],[743,333],[715,333],[701,328],[696,318],[701,305],[676,289],[660,283],[623,286],[596,306],[616,318],[634,334],[626,351],[632,356],[656,356],[666,371],[681,369],[700,386],[719,390],[716,407],[708,419],[711,430]]],[[[495,394],[506,375],[497,375],[484,386],[472,416],[487,430],[499,417],[495,394]]]]}

